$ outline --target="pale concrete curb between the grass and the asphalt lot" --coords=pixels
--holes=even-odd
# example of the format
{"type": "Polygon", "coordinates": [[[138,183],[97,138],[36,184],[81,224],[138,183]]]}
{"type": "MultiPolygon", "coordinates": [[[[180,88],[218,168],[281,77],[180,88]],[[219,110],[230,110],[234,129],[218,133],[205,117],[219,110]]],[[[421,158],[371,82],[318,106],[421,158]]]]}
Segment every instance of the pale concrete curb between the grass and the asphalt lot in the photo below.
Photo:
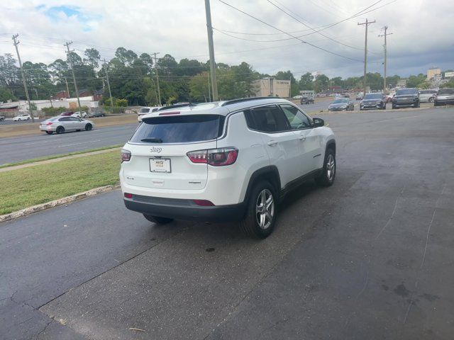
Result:
{"type": "Polygon", "coordinates": [[[19,217],[31,215],[34,212],[40,212],[46,209],[55,208],[59,205],[72,203],[76,200],[82,200],[82,198],[98,195],[99,193],[107,193],[109,191],[114,191],[118,188],[120,188],[118,184],[115,186],[101,186],[99,188],[90,189],[89,191],[84,191],[83,193],[76,193],[72,196],[59,198],[58,200],[52,200],[48,203],[33,205],[33,207],[24,208],[22,210],[18,210],[15,212],[10,212],[9,214],[6,215],[0,215],[0,222],[11,221],[19,217]]]}

